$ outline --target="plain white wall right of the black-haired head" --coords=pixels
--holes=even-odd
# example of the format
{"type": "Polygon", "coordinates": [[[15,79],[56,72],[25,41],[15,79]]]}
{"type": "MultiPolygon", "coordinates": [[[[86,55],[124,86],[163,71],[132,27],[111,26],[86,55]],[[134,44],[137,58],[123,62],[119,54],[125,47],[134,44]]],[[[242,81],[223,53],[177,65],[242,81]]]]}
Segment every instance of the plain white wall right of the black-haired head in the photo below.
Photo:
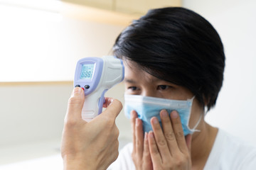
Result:
{"type": "Polygon", "coordinates": [[[256,145],[256,1],[183,0],[220,34],[226,55],[225,80],[206,120],[256,145]]]}

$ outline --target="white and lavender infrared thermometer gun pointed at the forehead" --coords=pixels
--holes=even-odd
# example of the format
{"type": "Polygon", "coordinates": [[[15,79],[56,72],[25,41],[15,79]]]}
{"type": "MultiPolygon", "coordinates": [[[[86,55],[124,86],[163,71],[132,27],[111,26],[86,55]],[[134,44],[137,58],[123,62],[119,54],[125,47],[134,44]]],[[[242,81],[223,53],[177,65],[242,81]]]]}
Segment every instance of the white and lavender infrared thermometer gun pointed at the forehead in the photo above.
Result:
{"type": "Polygon", "coordinates": [[[124,79],[124,64],[114,56],[86,57],[78,61],[74,86],[85,91],[82,119],[92,120],[102,113],[105,92],[124,79]]]}

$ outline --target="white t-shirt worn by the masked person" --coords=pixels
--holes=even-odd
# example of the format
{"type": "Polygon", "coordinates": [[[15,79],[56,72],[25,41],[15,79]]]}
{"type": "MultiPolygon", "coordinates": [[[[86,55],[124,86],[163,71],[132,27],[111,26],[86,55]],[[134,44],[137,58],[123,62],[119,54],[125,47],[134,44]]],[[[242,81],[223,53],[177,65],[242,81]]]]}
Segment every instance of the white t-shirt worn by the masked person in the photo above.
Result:
{"type": "MultiPolygon", "coordinates": [[[[135,170],[132,162],[132,143],[120,151],[111,170],[135,170]]],[[[203,170],[253,170],[256,169],[256,147],[247,145],[223,130],[218,130],[213,148],[203,170]]]]}

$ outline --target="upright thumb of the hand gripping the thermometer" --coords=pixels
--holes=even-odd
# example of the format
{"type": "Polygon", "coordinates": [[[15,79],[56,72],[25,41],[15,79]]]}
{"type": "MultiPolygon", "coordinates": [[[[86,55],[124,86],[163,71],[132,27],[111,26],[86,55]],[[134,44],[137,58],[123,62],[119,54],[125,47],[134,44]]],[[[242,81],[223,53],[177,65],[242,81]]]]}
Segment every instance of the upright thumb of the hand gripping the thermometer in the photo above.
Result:
{"type": "Polygon", "coordinates": [[[66,121],[78,121],[82,119],[82,106],[85,102],[85,93],[80,87],[73,89],[68,100],[68,110],[65,116],[66,121]]]}

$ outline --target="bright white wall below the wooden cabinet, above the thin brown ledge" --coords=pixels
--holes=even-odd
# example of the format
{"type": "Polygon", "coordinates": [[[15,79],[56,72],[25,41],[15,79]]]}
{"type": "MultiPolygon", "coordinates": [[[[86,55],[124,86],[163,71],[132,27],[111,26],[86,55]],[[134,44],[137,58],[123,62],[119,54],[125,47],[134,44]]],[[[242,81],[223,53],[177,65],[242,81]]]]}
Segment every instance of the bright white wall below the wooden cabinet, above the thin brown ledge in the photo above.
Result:
{"type": "Polygon", "coordinates": [[[108,55],[124,28],[1,3],[0,22],[0,82],[72,81],[76,62],[108,55]]]}

